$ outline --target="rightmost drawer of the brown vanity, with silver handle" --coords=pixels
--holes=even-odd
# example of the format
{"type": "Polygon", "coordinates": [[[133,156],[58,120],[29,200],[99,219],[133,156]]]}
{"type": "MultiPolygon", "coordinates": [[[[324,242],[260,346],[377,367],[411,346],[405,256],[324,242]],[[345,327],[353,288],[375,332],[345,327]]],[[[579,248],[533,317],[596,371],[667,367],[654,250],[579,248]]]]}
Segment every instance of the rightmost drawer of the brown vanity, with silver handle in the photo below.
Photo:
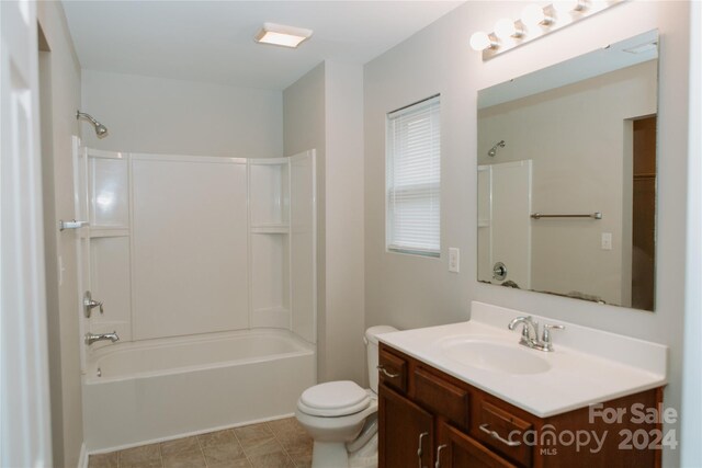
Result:
{"type": "Polygon", "coordinates": [[[487,401],[480,401],[473,435],[521,466],[531,467],[532,447],[524,444],[522,434],[533,425],[487,401]]]}

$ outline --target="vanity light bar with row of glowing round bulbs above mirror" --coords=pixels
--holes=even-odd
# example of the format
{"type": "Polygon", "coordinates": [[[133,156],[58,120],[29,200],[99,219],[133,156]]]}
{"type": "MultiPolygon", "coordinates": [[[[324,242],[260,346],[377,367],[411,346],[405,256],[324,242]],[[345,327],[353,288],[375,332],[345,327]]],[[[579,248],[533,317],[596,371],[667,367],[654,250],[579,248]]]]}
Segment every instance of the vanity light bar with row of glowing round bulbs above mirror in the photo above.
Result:
{"type": "Polygon", "coordinates": [[[522,11],[521,19],[501,19],[495,24],[495,32],[474,33],[471,36],[471,47],[483,53],[483,60],[488,60],[625,1],[627,0],[555,0],[545,7],[530,4],[522,11]]]}

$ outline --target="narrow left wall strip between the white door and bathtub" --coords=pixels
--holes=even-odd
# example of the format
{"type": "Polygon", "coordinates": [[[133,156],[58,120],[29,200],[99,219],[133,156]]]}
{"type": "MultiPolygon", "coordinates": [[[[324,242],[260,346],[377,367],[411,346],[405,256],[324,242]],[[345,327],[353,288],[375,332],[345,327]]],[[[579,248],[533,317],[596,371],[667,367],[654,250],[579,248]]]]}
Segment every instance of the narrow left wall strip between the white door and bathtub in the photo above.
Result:
{"type": "Polygon", "coordinates": [[[55,466],[75,467],[83,442],[78,265],[75,232],[59,233],[57,226],[59,219],[75,218],[71,135],[79,134],[76,109],[80,106],[80,64],[61,3],[38,2],[37,16],[50,48],[39,58],[39,107],[44,127],[42,164],[52,445],[55,466]]]}

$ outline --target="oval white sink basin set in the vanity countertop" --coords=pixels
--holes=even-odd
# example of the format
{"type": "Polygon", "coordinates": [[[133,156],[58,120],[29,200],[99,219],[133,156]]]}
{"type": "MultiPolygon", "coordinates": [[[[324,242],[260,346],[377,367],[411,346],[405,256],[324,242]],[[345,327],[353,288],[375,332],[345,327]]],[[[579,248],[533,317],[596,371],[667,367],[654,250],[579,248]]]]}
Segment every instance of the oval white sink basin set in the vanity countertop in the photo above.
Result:
{"type": "Polygon", "coordinates": [[[442,344],[443,353],[463,365],[506,374],[541,374],[551,364],[536,351],[482,340],[451,340],[442,344]]]}

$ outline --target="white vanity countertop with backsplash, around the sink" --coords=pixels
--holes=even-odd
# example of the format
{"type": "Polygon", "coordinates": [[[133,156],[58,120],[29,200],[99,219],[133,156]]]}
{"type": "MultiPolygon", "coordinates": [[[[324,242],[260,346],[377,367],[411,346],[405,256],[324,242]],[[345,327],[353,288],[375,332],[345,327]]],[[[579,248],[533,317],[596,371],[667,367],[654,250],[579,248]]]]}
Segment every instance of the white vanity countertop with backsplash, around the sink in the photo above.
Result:
{"type": "Polygon", "coordinates": [[[507,324],[525,316],[473,303],[472,319],[448,326],[378,335],[381,342],[416,357],[480,390],[541,418],[664,386],[668,349],[665,345],[573,323],[532,316],[543,323],[565,324],[553,331],[553,352],[519,344],[521,326],[507,324]],[[519,330],[519,331],[518,331],[519,330]],[[466,365],[444,353],[442,343],[456,339],[514,346],[545,359],[551,368],[539,374],[509,374],[466,365]]]}

